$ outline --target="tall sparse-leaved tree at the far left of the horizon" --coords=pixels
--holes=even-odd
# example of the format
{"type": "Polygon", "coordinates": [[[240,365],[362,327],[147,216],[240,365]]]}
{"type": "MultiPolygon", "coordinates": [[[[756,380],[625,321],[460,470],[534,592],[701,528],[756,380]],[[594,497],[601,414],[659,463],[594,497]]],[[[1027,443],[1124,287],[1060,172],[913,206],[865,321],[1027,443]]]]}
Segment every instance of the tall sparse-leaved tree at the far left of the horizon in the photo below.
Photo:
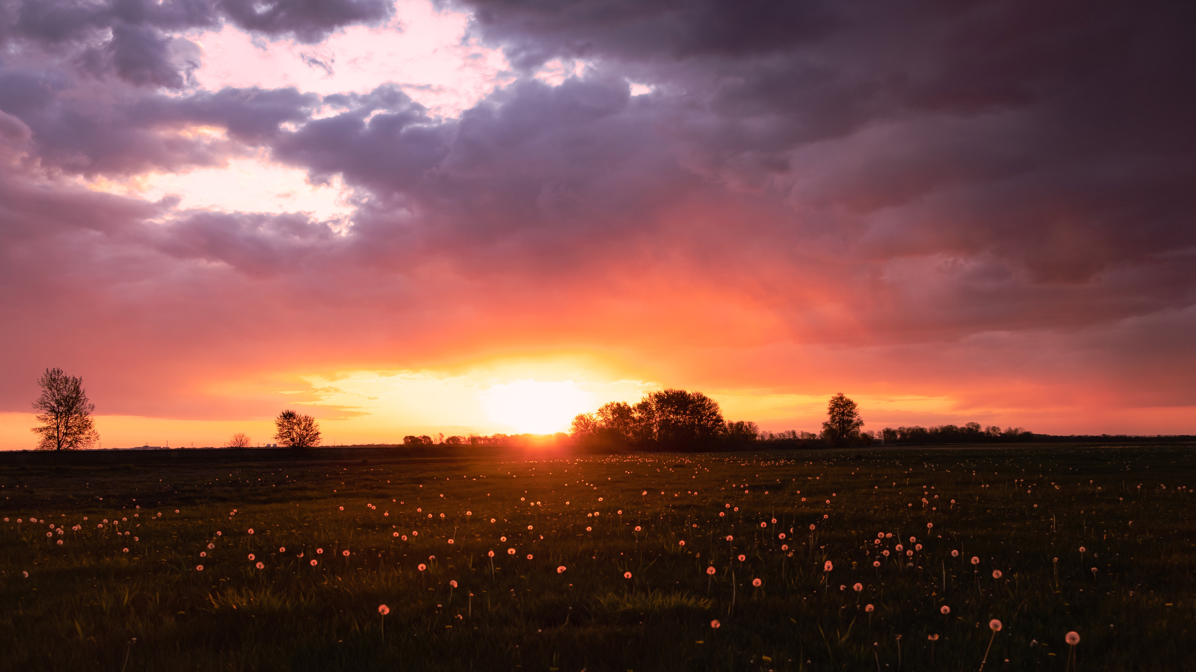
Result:
{"type": "Polygon", "coordinates": [[[38,435],[37,450],[74,451],[99,441],[91,419],[96,404],[87,399],[83,378],[67,375],[61,368],[47,368],[37,384],[42,387],[42,396],[33,402],[33,409],[41,411],[37,421],[42,423],[32,428],[38,435]]]}

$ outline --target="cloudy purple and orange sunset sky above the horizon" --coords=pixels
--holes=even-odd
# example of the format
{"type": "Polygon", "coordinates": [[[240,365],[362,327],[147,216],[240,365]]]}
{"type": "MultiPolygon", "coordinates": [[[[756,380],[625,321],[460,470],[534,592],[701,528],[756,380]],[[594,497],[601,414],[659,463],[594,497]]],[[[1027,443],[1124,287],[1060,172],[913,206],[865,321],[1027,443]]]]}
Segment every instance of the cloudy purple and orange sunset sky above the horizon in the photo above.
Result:
{"type": "Polygon", "coordinates": [[[1194,12],[0,0],[0,448],[1196,433],[1194,12]]]}

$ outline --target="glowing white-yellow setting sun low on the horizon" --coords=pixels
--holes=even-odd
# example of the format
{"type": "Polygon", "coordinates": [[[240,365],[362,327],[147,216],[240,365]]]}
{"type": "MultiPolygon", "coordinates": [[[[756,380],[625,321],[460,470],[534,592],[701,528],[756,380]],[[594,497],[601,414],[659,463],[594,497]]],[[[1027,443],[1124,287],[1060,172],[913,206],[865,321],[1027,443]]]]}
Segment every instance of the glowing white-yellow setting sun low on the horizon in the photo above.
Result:
{"type": "Polygon", "coordinates": [[[494,385],[482,398],[490,420],[529,434],[568,430],[573,416],[593,410],[593,395],[579,390],[572,380],[515,380],[494,385]]]}

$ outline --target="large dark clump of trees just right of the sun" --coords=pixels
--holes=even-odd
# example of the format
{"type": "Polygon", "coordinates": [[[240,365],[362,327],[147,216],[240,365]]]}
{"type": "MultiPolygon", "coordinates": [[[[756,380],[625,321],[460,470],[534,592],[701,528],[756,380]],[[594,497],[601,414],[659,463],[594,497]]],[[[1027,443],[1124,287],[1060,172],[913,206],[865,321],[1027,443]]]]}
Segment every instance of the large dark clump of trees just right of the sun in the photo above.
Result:
{"type": "Polygon", "coordinates": [[[661,390],[635,405],[610,402],[573,419],[569,435],[582,445],[663,451],[702,451],[753,442],[755,422],[727,422],[701,392],[661,390]]]}

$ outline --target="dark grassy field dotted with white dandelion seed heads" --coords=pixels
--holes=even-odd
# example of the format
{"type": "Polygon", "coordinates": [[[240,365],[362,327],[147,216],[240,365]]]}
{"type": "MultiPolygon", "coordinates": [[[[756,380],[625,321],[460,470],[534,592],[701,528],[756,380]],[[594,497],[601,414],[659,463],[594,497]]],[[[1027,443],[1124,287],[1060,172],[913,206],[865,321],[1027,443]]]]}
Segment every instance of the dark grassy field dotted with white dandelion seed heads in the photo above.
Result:
{"type": "Polygon", "coordinates": [[[1191,446],[5,454],[0,667],[1190,668],[1194,477],[1191,446]]]}

